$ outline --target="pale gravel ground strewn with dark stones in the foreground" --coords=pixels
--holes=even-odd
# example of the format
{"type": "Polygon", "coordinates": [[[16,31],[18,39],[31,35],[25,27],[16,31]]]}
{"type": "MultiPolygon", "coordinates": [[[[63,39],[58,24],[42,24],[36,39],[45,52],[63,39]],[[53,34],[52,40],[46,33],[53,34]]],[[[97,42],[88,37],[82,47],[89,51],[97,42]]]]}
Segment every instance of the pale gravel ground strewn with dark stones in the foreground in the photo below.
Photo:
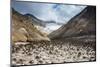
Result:
{"type": "MultiPolygon", "coordinates": [[[[91,44],[82,42],[71,43],[67,40],[19,43],[12,46],[12,64],[32,65],[95,61],[95,49],[87,45],[91,44]]],[[[92,45],[95,44],[92,43],[92,45]]]]}

